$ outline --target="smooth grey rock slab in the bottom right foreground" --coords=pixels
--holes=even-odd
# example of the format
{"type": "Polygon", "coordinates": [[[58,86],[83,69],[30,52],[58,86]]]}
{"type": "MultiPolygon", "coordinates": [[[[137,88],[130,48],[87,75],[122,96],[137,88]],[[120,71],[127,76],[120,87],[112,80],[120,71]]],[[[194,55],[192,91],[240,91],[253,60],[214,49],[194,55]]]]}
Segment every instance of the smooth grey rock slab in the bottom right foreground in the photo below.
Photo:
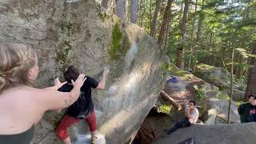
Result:
{"type": "Polygon", "coordinates": [[[256,142],[256,124],[242,123],[231,125],[194,125],[179,129],[167,138],[159,139],[154,144],[178,144],[193,138],[196,144],[252,144],[256,142]]]}

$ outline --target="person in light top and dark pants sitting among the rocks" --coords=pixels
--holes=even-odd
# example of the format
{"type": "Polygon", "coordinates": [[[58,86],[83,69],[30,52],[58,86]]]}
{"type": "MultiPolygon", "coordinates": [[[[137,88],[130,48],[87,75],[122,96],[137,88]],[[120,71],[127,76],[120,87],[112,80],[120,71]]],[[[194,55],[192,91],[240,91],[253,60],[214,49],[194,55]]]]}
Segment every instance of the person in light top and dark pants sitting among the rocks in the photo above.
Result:
{"type": "Polygon", "coordinates": [[[198,112],[198,109],[195,108],[195,106],[196,106],[195,101],[190,101],[188,104],[186,104],[186,106],[185,106],[186,118],[184,118],[181,121],[174,124],[174,126],[172,128],[170,128],[169,130],[165,130],[166,134],[171,134],[175,130],[178,130],[181,127],[184,128],[184,127],[191,126],[192,124],[196,123],[198,121],[199,112],[198,112]]]}

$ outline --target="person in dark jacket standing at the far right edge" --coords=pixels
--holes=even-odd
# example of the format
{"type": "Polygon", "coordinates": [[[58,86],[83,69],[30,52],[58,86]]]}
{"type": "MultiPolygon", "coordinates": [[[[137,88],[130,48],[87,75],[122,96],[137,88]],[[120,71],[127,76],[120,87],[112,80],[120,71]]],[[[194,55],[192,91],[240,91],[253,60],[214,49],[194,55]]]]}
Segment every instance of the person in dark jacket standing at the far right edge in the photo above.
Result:
{"type": "Polygon", "coordinates": [[[256,122],[256,94],[250,94],[248,98],[248,102],[238,106],[238,114],[242,123],[256,122]]]}

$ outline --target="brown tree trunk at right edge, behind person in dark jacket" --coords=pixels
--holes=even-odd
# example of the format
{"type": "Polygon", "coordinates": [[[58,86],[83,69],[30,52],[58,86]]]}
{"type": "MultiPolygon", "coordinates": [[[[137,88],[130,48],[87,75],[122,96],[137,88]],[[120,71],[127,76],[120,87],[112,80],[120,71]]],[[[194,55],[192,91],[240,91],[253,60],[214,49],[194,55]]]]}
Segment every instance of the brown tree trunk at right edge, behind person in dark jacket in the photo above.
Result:
{"type": "MultiPolygon", "coordinates": [[[[252,54],[256,54],[256,41],[254,41],[254,48],[252,51],[252,54]]],[[[251,57],[250,58],[250,70],[248,74],[248,80],[247,80],[247,87],[246,87],[246,94],[244,97],[244,102],[247,102],[248,96],[250,94],[256,94],[256,58],[251,57]]]]}

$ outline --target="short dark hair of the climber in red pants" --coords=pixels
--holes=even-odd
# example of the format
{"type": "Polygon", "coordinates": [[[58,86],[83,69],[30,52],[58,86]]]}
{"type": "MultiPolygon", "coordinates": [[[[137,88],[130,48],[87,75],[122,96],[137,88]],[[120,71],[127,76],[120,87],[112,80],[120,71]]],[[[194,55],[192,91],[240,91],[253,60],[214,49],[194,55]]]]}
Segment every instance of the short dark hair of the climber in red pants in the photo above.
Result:
{"type": "Polygon", "coordinates": [[[64,78],[66,82],[71,83],[71,80],[72,79],[73,81],[77,80],[78,76],[79,76],[79,70],[74,66],[69,66],[64,71],[64,78]]]}

